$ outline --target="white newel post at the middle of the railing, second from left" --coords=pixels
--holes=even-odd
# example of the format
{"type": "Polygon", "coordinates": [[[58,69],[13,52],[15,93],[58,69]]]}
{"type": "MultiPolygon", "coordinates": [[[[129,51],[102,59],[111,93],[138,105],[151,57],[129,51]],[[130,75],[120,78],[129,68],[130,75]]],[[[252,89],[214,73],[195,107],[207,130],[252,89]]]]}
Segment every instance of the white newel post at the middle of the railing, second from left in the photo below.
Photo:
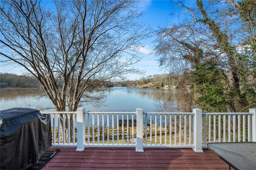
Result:
{"type": "Polygon", "coordinates": [[[143,110],[136,109],[137,128],[136,128],[136,152],[144,152],[143,150],[143,110]]]}

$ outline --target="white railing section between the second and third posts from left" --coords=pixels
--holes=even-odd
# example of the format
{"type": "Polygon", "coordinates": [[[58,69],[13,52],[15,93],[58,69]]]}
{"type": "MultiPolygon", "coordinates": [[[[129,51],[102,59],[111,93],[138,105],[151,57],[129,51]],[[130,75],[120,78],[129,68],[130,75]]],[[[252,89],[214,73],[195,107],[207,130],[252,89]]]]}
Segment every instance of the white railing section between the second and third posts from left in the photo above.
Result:
{"type": "Polygon", "coordinates": [[[149,140],[145,140],[144,147],[192,147],[193,113],[144,114],[145,119],[148,120],[145,139],[149,137],[149,140]]]}

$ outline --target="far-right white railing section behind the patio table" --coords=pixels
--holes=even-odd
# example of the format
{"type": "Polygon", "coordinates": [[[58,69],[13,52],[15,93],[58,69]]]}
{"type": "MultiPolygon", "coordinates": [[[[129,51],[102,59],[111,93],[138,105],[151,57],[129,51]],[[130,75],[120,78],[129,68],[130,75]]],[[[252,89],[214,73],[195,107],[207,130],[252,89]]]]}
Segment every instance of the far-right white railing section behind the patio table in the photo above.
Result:
{"type": "Polygon", "coordinates": [[[256,109],[246,113],[203,113],[203,134],[210,142],[256,141],[256,109]]]}

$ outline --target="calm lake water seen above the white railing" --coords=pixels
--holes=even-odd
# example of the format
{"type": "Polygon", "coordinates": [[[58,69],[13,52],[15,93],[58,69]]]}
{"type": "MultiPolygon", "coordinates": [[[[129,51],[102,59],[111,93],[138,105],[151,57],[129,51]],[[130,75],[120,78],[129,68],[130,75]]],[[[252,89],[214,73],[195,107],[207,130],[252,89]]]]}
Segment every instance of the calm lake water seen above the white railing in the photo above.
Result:
{"type": "MultiPolygon", "coordinates": [[[[150,88],[110,88],[106,90],[108,95],[104,105],[95,108],[91,104],[82,106],[86,111],[136,111],[136,108],[146,112],[158,111],[154,106],[160,95],[168,95],[175,98],[176,90],[150,89],[150,88]]],[[[13,107],[28,107],[44,111],[54,109],[41,109],[53,107],[51,101],[45,97],[28,93],[28,89],[0,89],[0,110],[13,107]]]]}

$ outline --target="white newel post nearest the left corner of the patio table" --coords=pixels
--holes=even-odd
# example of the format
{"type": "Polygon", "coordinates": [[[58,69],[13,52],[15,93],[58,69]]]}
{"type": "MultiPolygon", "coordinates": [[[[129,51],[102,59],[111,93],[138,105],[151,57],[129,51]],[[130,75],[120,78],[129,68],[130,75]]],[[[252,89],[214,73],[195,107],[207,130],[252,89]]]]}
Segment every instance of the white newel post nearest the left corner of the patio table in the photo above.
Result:
{"type": "Polygon", "coordinates": [[[194,151],[203,152],[202,150],[202,110],[193,109],[194,113],[194,151]]]}

